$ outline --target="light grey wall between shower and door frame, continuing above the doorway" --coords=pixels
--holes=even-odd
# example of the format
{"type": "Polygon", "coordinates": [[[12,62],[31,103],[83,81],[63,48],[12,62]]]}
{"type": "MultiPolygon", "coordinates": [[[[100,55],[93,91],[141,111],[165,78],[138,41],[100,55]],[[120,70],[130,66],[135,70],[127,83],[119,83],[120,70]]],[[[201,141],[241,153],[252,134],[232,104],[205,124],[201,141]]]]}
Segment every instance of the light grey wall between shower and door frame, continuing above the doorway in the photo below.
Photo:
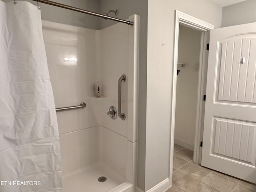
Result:
{"type": "Polygon", "coordinates": [[[169,177],[175,10],[221,26],[222,8],[205,0],[148,0],[145,190],[169,177]]]}

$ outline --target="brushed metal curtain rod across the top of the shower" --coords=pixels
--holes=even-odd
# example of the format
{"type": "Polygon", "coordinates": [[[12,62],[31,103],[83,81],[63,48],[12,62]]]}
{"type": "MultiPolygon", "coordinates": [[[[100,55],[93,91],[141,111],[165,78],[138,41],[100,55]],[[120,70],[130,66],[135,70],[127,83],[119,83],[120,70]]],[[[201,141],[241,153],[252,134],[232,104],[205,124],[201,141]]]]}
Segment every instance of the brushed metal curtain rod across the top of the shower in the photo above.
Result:
{"type": "Polygon", "coordinates": [[[91,11],[83,10],[83,9],[80,9],[80,8],[60,4],[60,3],[57,3],[57,2],[53,2],[53,1],[48,1],[48,0],[32,0],[32,1],[45,3],[45,4],[48,4],[48,5],[53,5],[53,6],[57,6],[57,7],[61,7],[61,8],[64,8],[64,9],[69,9],[69,10],[72,10],[72,11],[77,11],[77,12],[81,12],[81,13],[85,13],[85,14],[89,14],[89,15],[93,15],[93,16],[97,16],[97,17],[102,17],[104,19],[110,19],[110,20],[118,21],[118,22],[125,23],[125,24],[128,24],[128,25],[133,25],[133,22],[131,22],[131,21],[126,21],[126,20],[122,20],[122,19],[118,19],[118,18],[98,14],[98,13],[95,13],[95,12],[91,12],[91,11]]]}

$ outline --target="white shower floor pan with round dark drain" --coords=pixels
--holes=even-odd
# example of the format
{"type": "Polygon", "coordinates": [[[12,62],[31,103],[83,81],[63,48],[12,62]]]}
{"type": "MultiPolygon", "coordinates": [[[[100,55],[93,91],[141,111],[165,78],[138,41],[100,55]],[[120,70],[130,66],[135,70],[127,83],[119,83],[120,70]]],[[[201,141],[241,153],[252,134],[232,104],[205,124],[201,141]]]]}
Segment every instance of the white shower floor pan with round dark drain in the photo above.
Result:
{"type": "Polygon", "coordinates": [[[63,192],[107,192],[123,182],[124,180],[118,174],[102,164],[94,165],[62,178],[63,192]],[[99,182],[98,178],[101,176],[106,177],[107,180],[99,182]]]}

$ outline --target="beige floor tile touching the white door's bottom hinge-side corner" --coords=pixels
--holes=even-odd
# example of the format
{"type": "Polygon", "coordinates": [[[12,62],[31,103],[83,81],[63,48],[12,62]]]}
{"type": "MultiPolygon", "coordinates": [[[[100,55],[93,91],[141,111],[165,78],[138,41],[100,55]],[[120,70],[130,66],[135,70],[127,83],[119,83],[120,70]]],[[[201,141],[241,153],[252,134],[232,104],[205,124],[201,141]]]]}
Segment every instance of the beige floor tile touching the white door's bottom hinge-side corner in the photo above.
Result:
{"type": "Polygon", "coordinates": [[[188,164],[182,166],[179,170],[197,180],[201,180],[207,174],[210,173],[210,171],[206,170],[205,168],[197,166],[192,163],[188,163],[188,164]]]}

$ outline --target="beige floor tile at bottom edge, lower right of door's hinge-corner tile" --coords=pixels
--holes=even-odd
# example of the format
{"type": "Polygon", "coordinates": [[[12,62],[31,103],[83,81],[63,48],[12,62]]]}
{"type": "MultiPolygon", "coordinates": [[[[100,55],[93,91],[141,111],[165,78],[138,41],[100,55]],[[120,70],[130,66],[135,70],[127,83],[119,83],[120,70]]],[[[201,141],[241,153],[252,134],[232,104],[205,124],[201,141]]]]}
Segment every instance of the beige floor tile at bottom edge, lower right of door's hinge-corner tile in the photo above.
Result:
{"type": "Polygon", "coordinates": [[[236,185],[234,182],[231,182],[221,176],[218,176],[212,172],[206,175],[201,182],[204,184],[220,191],[220,192],[230,192],[236,185]]]}

